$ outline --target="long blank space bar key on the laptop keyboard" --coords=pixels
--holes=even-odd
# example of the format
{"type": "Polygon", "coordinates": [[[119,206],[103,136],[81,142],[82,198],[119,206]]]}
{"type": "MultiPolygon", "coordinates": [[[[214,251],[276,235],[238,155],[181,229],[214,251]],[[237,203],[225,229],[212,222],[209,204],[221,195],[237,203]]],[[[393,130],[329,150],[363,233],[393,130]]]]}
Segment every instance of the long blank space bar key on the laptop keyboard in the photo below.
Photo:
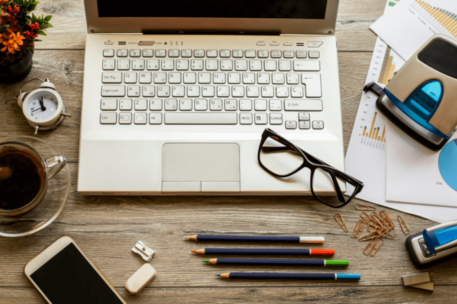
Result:
{"type": "Polygon", "coordinates": [[[236,124],[236,113],[165,113],[166,124],[236,124]]]}

